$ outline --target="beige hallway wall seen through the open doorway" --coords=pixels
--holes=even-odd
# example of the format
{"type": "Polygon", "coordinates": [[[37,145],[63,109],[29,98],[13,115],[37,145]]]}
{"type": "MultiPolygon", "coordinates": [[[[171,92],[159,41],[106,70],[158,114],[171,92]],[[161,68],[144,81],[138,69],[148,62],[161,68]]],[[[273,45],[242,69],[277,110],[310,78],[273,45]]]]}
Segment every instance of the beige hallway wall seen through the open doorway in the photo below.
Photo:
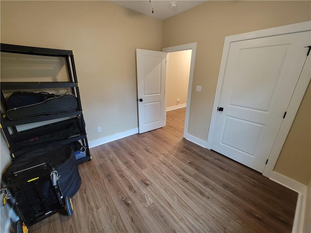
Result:
{"type": "Polygon", "coordinates": [[[170,52],[168,55],[165,92],[167,108],[187,103],[191,53],[192,50],[185,50],[170,52]]]}

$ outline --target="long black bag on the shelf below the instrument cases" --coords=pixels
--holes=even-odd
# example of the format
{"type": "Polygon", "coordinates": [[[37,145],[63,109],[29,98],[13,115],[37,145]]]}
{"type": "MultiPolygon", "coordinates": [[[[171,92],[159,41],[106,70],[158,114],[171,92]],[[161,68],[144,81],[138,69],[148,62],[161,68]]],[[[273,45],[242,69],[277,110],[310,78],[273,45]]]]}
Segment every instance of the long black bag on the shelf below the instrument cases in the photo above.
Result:
{"type": "MultiPolygon", "coordinates": [[[[14,148],[12,153],[22,150],[23,153],[34,147],[47,146],[50,143],[73,138],[83,134],[81,120],[77,117],[64,121],[43,125],[30,130],[20,131],[11,135],[14,148]]],[[[18,155],[16,154],[15,157],[18,155]]]]}

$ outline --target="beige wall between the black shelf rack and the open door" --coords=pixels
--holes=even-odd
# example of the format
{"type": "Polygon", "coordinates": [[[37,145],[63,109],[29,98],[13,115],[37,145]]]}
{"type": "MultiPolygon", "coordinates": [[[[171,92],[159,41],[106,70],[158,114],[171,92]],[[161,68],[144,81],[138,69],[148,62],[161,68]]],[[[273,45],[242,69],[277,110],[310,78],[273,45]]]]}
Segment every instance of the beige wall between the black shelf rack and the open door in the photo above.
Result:
{"type": "Polygon", "coordinates": [[[135,50],[162,49],[161,20],[108,1],[0,4],[1,43],[74,50],[89,141],[138,127],[135,50]]]}

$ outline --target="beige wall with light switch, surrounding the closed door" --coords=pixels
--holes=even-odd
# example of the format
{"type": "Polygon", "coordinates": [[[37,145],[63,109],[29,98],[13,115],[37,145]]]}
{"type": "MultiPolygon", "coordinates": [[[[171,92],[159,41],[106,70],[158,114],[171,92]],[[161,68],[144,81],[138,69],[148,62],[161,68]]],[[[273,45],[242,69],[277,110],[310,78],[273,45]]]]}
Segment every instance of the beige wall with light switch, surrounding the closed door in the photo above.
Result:
{"type": "MultiPolygon", "coordinates": [[[[207,140],[225,36],[309,20],[311,1],[208,1],[164,20],[163,47],[198,43],[188,133],[207,140]],[[195,91],[196,85],[202,85],[202,92],[195,91]]],[[[306,98],[305,105],[311,105],[310,98],[306,98]]],[[[299,112],[299,115],[308,115],[310,108],[309,112],[308,108],[301,108],[299,112]]],[[[308,124],[310,117],[296,123],[291,133],[296,127],[308,124]]],[[[310,128],[302,127],[302,134],[310,135],[310,128]]],[[[287,140],[284,147],[299,150],[301,159],[296,159],[296,153],[281,155],[276,167],[277,172],[307,184],[310,179],[310,141],[307,147],[303,146],[305,144],[300,141],[287,140]]]]}

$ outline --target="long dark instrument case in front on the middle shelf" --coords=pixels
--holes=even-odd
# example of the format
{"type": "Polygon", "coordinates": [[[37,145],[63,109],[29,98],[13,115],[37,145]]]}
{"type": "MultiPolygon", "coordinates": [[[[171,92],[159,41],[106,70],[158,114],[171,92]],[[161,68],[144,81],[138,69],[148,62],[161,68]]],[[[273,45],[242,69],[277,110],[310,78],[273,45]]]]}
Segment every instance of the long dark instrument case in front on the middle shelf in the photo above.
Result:
{"type": "Polygon", "coordinates": [[[6,115],[10,120],[17,120],[34,116],[71,112],[77,108],[77,98],[72,94],[64,94],[44,100],[43,102],[10,109],[6,112],[6,115]]]}

